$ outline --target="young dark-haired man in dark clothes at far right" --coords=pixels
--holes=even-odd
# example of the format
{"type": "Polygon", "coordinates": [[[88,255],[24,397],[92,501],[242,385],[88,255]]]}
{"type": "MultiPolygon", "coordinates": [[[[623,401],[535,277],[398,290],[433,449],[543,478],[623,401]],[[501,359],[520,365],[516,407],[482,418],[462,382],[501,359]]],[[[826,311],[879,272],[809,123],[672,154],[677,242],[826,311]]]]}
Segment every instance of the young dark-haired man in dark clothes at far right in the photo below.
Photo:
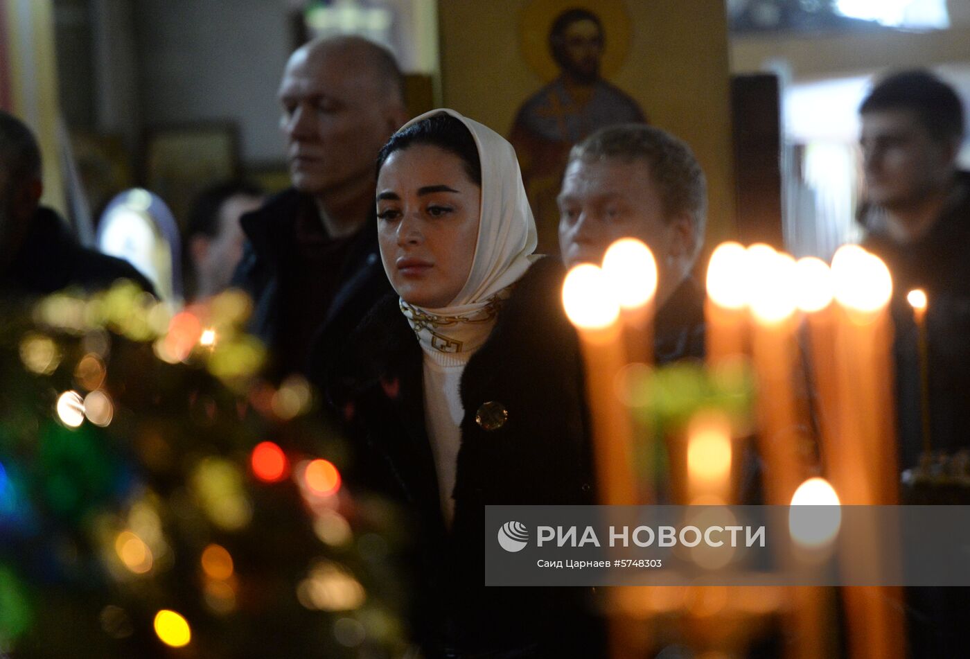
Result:
{"type": "MultiPolygon", "coordinates": [[[[933,460],[970,447],[970,174],[956,166],[963,104],[953,87],[929,72],[904,71],[878,82],[859,115],[867,198],[860,213],[863,247],[883,258],[892,274],[896,429],[900,468],[909,469],[922,462],[924,442],[933,460]],[[920,339],[906,303],[913,288],[928,299],[925,398],[920,339]]],[[[943,471],[949,469],[939,476],[943,471]]],[[[951,503],[949,496],[940,503],[951,503]]],[[[965,652],[967,588],[908,588],[906,605],[909,656],[965,652]]]]}

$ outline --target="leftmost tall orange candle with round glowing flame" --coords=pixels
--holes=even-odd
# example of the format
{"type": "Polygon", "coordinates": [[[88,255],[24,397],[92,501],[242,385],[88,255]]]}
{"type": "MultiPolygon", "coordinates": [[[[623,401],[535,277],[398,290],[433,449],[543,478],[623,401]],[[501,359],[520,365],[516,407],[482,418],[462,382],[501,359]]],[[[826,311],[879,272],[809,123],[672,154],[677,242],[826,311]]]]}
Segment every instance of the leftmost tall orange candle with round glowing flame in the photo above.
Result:
{"type": "Polygon", "coordinates": [[[563,306],[579,333],[586,365],[600,503],[635,505],[632,426],[615,386],[624,366],[619,300],[603,271],[586,263],[566,275],[563,306]]]}

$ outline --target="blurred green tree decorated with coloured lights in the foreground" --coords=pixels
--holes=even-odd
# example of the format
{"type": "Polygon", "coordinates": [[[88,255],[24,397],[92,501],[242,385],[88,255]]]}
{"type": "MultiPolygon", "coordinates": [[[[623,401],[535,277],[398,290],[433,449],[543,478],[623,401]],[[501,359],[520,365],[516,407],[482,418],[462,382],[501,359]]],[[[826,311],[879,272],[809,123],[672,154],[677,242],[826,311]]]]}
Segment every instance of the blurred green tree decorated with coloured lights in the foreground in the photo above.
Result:
{"type": "Polygon", "coordinates": [[[128,284],[2,310],[0,655],[404,650],[392,508],[305,379],[260,376],[227,292],[128,284]]]}

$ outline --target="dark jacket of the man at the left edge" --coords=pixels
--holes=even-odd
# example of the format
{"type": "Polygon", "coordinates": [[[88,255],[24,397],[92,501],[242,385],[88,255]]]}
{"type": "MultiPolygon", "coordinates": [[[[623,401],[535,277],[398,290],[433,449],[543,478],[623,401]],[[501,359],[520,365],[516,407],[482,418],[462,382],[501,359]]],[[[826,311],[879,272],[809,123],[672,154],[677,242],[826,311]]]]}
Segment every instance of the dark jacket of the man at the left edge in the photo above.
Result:
{"type": "Polygon", "coordinates": [[[71,287],[92,292],[108,288],[115,280],[132,280],[154,293],[151,283],[130,263],[82,247],[66,222],[42,206],[11,267],[0,274],[0,290],[7,296],[28,297],[71,287]]]}

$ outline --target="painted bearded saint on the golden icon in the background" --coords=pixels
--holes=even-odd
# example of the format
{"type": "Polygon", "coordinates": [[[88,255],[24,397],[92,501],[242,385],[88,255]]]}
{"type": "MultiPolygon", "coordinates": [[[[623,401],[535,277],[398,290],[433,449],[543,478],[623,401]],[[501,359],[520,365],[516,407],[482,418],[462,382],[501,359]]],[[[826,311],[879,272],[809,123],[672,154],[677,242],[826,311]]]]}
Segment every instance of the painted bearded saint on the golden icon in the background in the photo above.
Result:
{"type": "MultiPolygon", "coordinates": [[[[609,4],[598,5],[598,11],[607,9],[609,4]]],[[[533,2],[524,12],[523,49],[527,60],[533,62],[538,59],[538,44],[530,32],[534,33],[535,22],[546,17],[540,15],[545,13],[543,6],[548,5],[533,2]]],[[[594,11],[575,7],[548,16],[551,21],[547,23],[546,47],[556,66],[555,78],[526,99],[512,125],[509,141],[522,167],[541,253],[559,252],[556,195],[569,149],[603,126],[646,121],[636,101],[602,77],[607,45],[604,24],[623,32],[620,36],[625,39],[618,40],[621,48],[617,50],[624,49],[623,42],[629,40],[629,34],[624,32],[629,29],[629,20],[622,11],[619,14],[618,20],[605,22],[594,11]]],[[[614,57],[610,63],[615,66],[616,61],[614,57]]]]}

